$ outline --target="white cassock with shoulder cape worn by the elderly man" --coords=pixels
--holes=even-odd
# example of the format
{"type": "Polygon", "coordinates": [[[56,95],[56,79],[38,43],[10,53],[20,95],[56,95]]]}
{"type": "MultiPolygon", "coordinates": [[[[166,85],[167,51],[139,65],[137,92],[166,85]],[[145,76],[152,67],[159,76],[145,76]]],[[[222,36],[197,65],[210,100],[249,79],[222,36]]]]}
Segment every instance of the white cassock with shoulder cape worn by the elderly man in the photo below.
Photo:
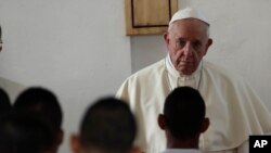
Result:
{"type": "Polygon", "coordinates": [[[210,126],[201,136],[202,151],[248,153],[249,135],[271,132],[270,113],[243,79],[207,61],[202,61],[191,76],[180,76],[167,56],[127,78],[117,92],[137,116],[139,131],[134,143],[142,151],[159,153],[166,149],[157,116],[177,86],[198,89],[205,100],[210,126]]]}

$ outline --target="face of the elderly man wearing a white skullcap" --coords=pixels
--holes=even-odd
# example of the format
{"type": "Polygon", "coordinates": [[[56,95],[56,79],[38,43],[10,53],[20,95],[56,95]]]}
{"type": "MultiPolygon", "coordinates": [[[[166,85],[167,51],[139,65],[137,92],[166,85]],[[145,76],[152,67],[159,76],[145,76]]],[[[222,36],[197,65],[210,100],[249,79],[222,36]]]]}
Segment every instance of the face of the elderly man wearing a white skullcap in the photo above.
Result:
{"type": "Polygon", "coordinates": [[[175,22],[164,38],[175,68],[183,75],[196,71],[212,42],[208,25],[193,18],[175,22]]]}

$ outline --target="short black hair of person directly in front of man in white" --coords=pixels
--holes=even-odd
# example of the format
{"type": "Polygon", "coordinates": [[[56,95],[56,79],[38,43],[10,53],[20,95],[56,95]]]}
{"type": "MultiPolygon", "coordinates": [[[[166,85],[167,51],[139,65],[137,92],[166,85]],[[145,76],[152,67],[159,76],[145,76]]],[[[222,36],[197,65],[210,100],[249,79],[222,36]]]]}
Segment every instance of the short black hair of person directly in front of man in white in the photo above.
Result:
{"type": "Polygon", "coordinates": [[[199,133],[205,118],[205,102],[201,93],[191,87],[176,88],[166,99],[164,115],[171,135],[180,140],[199,133]]]}

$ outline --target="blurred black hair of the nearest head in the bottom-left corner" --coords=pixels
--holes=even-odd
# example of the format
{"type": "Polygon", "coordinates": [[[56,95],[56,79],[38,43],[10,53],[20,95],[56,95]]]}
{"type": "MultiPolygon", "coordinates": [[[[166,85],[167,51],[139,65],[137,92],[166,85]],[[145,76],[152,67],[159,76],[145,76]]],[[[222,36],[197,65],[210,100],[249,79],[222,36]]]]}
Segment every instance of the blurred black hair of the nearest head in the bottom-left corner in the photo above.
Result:
{"type": "Polygon", "coordinates": [[[10,112],[0,119],[1,153],[42,153],[52,143],[52,127],[39,116],[10,112]]]}

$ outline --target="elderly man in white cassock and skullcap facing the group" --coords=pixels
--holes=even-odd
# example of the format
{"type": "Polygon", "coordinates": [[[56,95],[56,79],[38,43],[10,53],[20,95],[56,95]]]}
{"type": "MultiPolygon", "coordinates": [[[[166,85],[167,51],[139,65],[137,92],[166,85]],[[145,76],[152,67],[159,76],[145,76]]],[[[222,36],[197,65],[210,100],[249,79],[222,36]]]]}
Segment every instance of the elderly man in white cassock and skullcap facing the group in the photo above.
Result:
{"type": "Polygon", "coordinates": [[[197,89],[206,102],[208,130],[199,138],[204,153],[248,153],[248,136],[271,132],[271,115],[255,91],[240,77],[203,60],[212,40],[209,22],[196,10],[178,11],[164,35],[168,55],[125,80],[117,97],[138,119],[136,144],[159,153],[166,137],[157,125],[166,97],[176,87],[197,89]]]}

